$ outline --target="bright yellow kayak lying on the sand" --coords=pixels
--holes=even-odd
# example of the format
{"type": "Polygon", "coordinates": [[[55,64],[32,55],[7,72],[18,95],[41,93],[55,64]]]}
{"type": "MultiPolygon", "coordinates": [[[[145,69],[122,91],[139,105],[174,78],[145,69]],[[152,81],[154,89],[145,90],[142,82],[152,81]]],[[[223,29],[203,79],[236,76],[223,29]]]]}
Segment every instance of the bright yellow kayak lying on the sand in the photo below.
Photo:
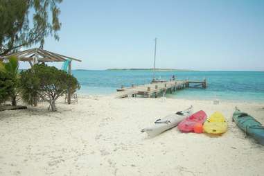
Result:
{"type": "Polygon", "coordinates": [[[222,134],[227,132],[227,120],[220,112],[215,112],[204,122],[203,128],[206,133],[222,134]]]}

